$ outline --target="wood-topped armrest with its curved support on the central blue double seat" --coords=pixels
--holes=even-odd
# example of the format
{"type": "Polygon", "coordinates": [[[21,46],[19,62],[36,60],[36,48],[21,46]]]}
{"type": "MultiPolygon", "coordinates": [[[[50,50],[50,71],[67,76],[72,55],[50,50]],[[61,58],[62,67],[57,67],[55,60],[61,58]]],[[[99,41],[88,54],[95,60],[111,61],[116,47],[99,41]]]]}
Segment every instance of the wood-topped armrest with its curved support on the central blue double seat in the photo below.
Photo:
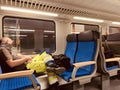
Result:
{"type": "Polygon", "coordinates": [[[80,63],[73,64],[75,67],[74,67],[73,72],[72,72],[72,79],[75,79],[76,72],[80,67],[92,65],[95,63],[96,63],[95,61],[87,61],[87,62],[80,62],[80,63]]]}

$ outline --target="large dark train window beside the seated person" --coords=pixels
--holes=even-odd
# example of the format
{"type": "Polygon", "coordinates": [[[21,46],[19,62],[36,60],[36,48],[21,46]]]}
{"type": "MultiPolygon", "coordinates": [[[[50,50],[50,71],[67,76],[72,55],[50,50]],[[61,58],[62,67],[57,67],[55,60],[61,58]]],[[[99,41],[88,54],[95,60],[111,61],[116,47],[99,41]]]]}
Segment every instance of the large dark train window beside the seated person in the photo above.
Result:
{"type": "Polygon", "coordinates": [[[54,21],[4,17],[3,35],[12,38],[15,51],[23,54],[56,49],[54,21]]]}

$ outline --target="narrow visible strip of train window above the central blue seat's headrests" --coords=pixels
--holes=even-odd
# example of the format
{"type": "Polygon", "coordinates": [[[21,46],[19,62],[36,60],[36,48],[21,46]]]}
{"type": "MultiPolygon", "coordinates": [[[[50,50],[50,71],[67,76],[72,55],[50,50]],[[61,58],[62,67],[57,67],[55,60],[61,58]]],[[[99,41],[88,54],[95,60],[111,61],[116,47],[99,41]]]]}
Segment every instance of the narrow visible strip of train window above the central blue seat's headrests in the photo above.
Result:
{"type": "Polygon", "coordinates": [[[87,30],[99,30],[99,26],[83,23],[71,23],[71,32],[79,33],[87,30]]]}

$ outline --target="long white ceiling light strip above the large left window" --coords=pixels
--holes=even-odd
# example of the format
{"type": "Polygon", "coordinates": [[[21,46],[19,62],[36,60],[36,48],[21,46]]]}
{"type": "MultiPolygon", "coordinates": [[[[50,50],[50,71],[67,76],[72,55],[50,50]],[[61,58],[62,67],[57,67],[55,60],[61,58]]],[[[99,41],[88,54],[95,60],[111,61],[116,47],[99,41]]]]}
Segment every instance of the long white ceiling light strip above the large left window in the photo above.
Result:
{"type": "Polygon", "coordinates": [[[8,10],[8,11],[40,14],[40,15],[46,15],[46,16],[55,16],[55,17],[58,16],[58,14],[55,14],[55,13],[42,12],[42,11],[38,11],[38,10],[30,10],[30,9],[23,9],[23,8],[16,8],[16,7],[1,6],[1,9],[8,10]]]}

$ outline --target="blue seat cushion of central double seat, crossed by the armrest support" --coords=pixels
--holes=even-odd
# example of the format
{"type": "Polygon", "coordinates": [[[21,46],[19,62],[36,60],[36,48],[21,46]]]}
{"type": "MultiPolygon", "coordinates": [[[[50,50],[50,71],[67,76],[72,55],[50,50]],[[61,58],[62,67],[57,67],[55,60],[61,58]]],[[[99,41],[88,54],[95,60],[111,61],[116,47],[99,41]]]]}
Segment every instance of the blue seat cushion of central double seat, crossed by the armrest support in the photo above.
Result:
{"type": "MultiPolygon", "coordinates": [[[[72,75],[72,71],[73,71],[73,67],[65,72],[63,72],[62,74],[60,74],[60,77],[62,77],[64,80],[69,82],[69,79],[71,78],[72,75]]],[[[80,77],[80,76],[84,76],[84,75],[89,75],[91,74],[90,71],[80,68],[78,69],[77,73],[76,73],[76,77],[80,77]]]]}

